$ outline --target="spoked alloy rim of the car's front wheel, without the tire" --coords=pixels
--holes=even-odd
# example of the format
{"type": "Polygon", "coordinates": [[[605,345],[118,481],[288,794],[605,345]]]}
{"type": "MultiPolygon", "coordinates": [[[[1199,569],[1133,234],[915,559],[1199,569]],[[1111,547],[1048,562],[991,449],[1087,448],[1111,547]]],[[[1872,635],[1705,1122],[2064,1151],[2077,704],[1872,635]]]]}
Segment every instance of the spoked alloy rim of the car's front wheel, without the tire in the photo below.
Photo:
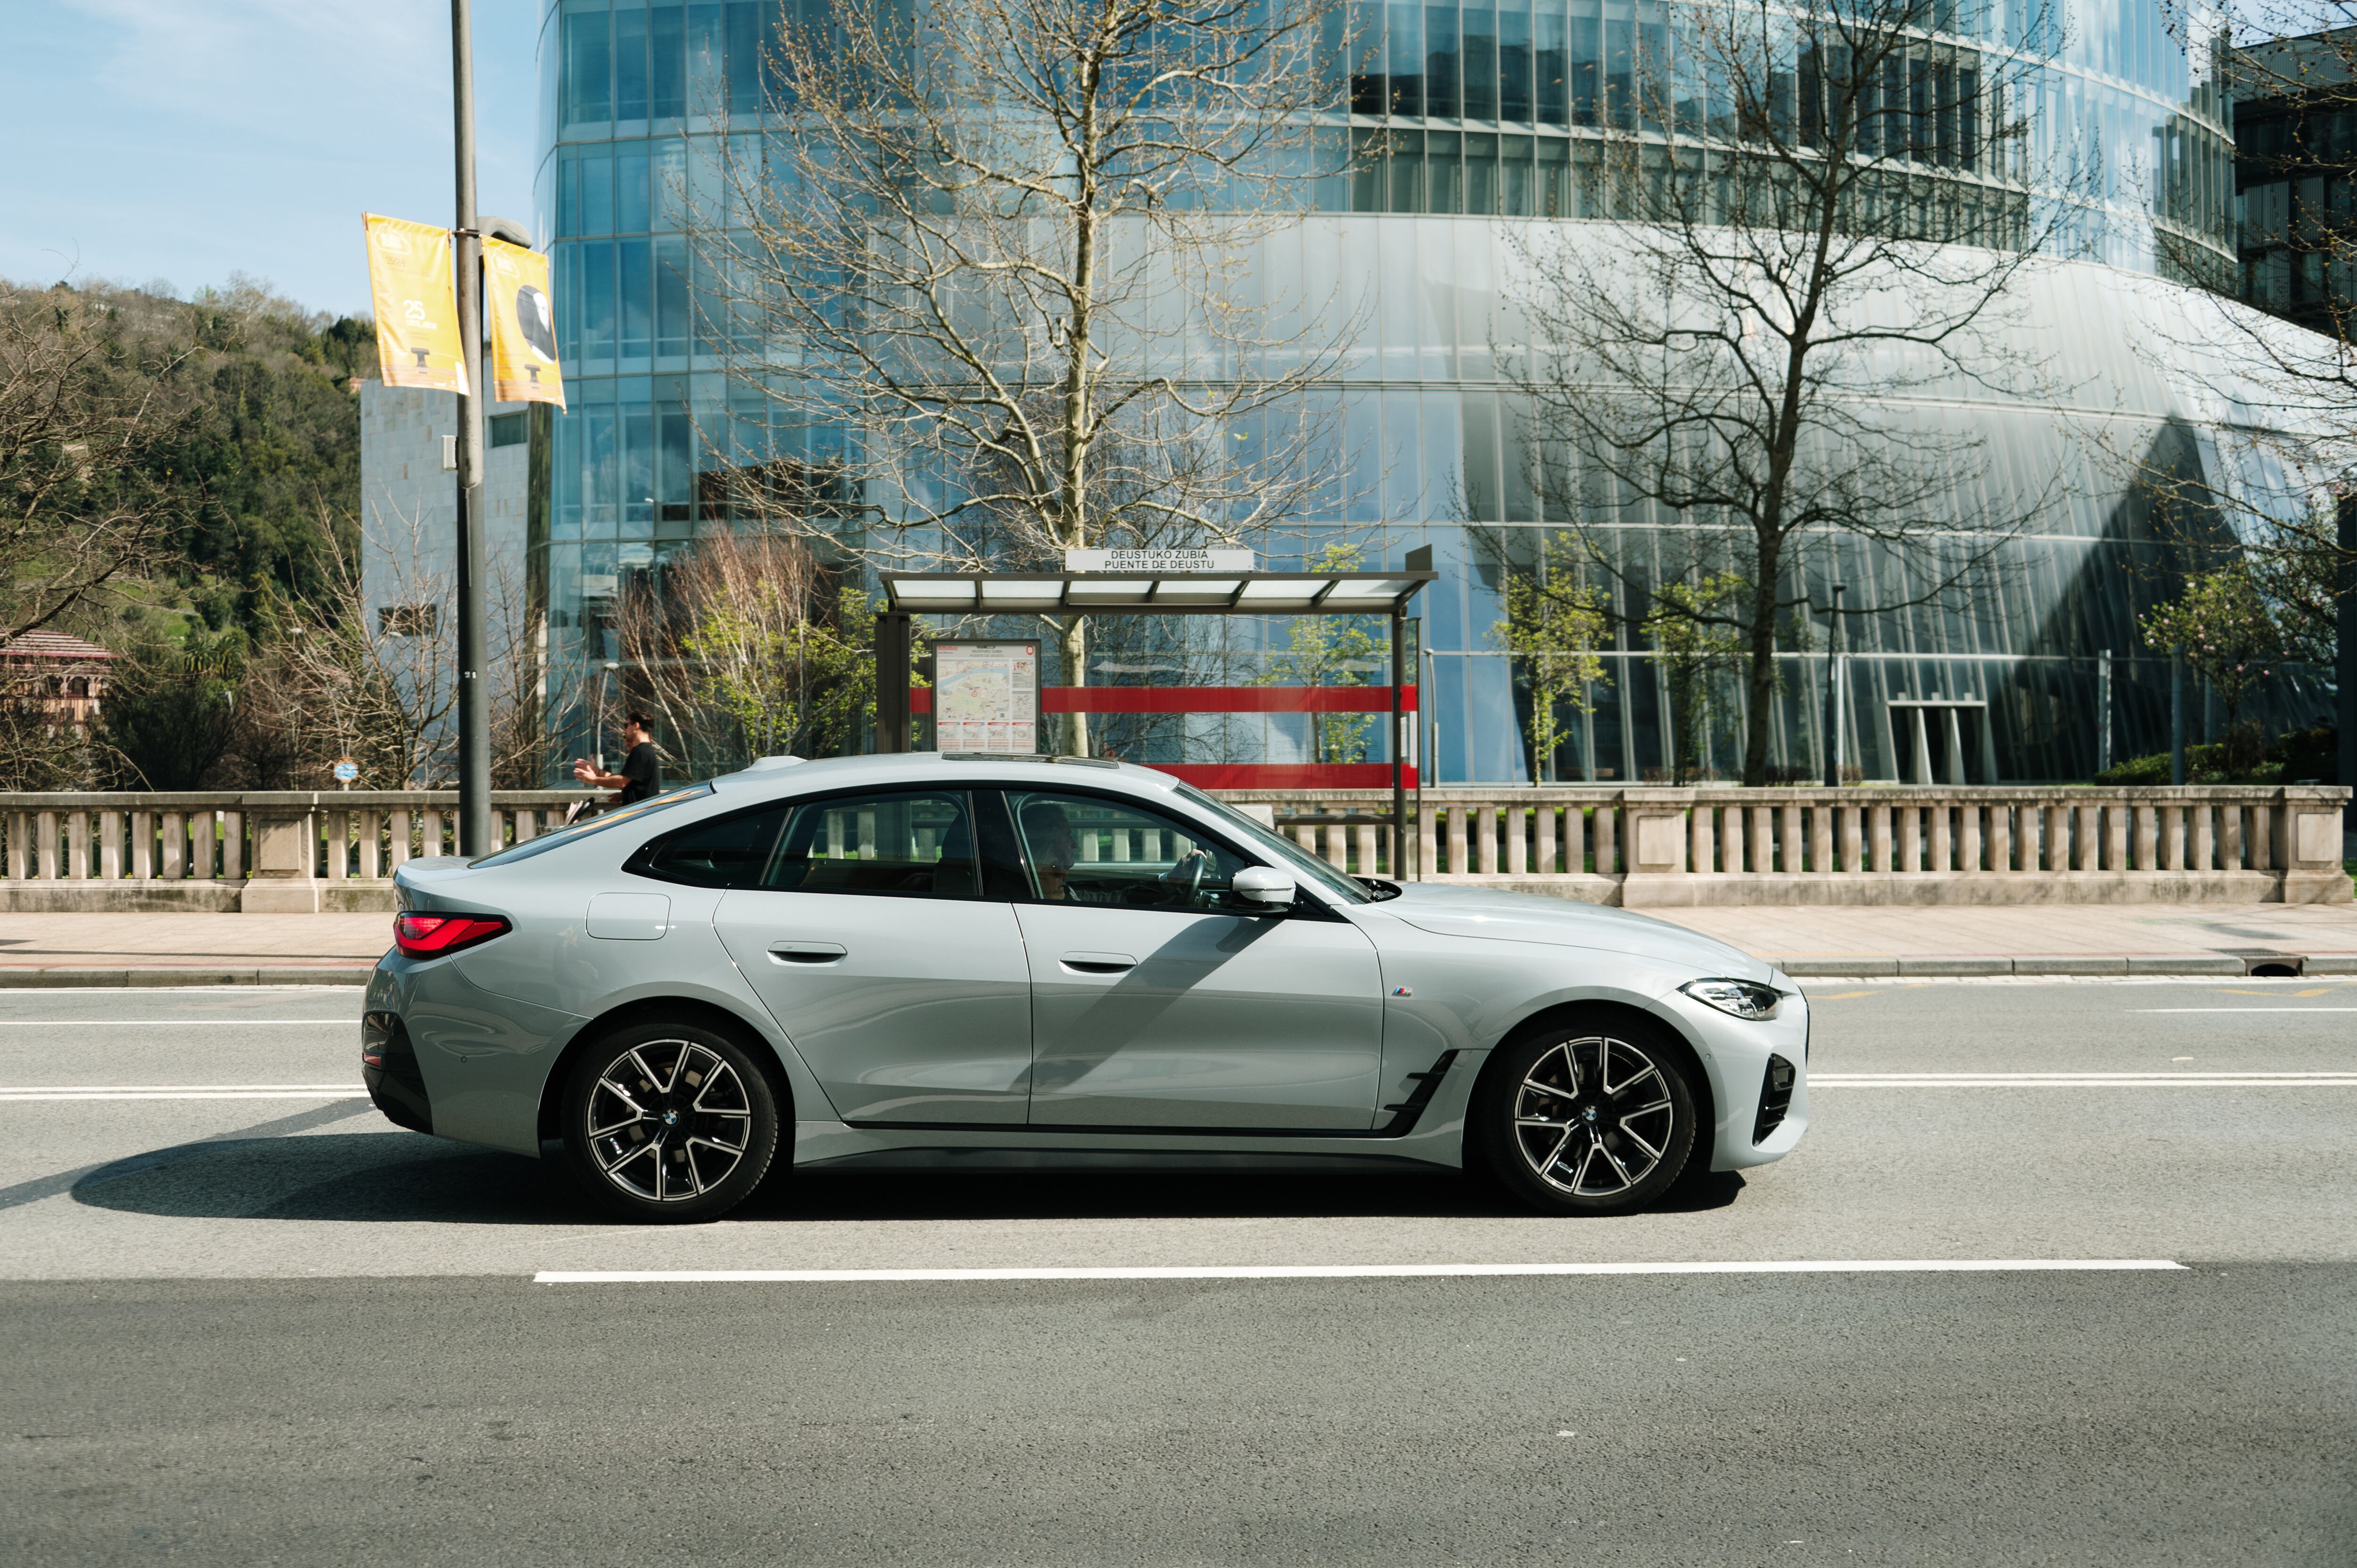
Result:
{"type": "Polygon", "coordinates": [[[1556,1042],[1513,1096],[1523,1162],[1574,1198],[1612,1198],[1645,1181],[1669,1153],[1676,1120],[1662,1066],[1610,1035],[1556,1042]]]}

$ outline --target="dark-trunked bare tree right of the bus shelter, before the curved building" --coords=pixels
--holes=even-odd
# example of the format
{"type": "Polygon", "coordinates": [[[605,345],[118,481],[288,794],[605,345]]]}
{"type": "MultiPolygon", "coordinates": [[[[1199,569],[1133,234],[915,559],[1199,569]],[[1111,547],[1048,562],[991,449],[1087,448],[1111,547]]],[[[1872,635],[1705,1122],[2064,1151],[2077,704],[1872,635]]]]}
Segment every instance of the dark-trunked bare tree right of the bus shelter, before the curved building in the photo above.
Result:
{"type": "Polygon", "coordinates": [[[1532,349],[1501,363],[1530,396],[1534,488],[1624,599],[1692,589],[1624,604],[1624,625],[1669,611],[1737,634],[1751,785],[1813,542],[1881,554],[1886,592],[1860,613],[1952,601],[2060,483],[1982,502],[1985,436],[1895,413],[1959,384],[2029,389],[2006,330],[2051,222],[2027,191],[2022,61],[1935,40],[1933,17],[1681,7],[1603,106],[1598,217],[1622,226],[1518,241],[1532,349]],[[1659,566],[1622,559],[1629,521],[1681,523],[1659,566]]]}

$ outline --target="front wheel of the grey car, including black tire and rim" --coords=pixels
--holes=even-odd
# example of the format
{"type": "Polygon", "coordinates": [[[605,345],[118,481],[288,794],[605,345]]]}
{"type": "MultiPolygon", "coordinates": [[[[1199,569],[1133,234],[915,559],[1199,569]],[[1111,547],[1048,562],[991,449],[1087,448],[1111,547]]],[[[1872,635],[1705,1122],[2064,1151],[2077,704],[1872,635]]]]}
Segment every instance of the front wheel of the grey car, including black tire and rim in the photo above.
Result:
{"type": "Polygon", "coordinates": [[[1631,1019],[1546,1028],[1499,1047],[1471,1132],[1492,1174],[1532,1207],[1626,1214],[1666,1193],[1695,1151],[1690,1070],[1659,1028],[1631,1019]]]}

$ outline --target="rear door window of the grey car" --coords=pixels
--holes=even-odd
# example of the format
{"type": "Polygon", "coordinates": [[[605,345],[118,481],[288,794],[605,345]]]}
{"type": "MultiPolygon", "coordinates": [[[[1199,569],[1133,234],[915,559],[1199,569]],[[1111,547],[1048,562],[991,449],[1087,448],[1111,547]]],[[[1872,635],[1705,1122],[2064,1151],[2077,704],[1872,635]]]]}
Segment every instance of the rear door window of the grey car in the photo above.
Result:
{"type": "Polygon", "coordinates": [[[973,806],[964,790],[801,802],[759,887],[780,894],[981,898],[973,806]]]}

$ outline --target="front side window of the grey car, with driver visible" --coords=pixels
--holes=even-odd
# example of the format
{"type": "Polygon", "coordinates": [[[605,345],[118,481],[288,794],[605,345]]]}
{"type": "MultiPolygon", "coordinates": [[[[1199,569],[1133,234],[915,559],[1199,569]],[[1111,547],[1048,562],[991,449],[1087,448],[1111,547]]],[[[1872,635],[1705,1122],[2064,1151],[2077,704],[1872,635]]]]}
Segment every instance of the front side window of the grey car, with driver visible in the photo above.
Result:
{"type": "Polygon", "coordinates": [[[1200,828],[1101,795],[1009,790],[1006,806],[1028,894],[1042,903],[1266,913],[1230,887],[1252,861],[1200,828]]]}

